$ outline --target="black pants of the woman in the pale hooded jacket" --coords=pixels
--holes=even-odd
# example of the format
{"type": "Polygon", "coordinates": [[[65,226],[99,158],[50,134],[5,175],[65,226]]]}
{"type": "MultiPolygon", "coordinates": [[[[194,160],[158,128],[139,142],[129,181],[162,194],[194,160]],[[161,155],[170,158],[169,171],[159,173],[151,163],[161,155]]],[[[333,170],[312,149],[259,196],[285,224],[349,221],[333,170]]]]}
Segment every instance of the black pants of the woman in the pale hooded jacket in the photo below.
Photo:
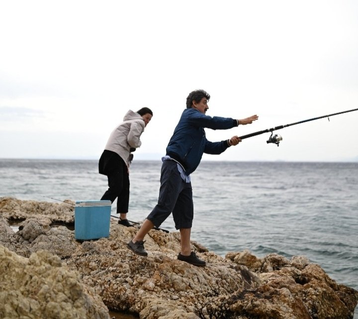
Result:
{"type": "MultiPolygon", "coordinates": [[[[128,213],[129,175],[127,165],[118,154],[110,151],[105,152],[106,154],[102,154],[104,160],[101,157],[99,162],[100,165],[102,162],[106,163],[104,175],[107,175],[109,188],[103,194],[101,201],[109,200],[113,203],[117,198],[117,213],[128,213]]],[[[101,169],[99,171],[101,172],[101,169]]]]}

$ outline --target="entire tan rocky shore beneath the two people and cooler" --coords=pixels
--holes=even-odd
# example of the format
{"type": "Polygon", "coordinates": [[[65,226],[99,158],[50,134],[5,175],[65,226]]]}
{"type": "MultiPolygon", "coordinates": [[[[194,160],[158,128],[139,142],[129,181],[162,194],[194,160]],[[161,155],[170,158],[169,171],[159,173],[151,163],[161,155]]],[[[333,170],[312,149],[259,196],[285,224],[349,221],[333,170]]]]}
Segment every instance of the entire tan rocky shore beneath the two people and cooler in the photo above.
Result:
{"type": "Polygon", "coordinates": [[[177,260],[178,232],[151,230],[140,257],[126,247],[137,228],[112,218],[109,238],[79,242],[73,224],[73,205],[0,198],[0,318],[109,319],[108,309],[141,319],[354,316],[358,292],[304,256],[222,258],[192,242],[201,268],[177,260]]]}

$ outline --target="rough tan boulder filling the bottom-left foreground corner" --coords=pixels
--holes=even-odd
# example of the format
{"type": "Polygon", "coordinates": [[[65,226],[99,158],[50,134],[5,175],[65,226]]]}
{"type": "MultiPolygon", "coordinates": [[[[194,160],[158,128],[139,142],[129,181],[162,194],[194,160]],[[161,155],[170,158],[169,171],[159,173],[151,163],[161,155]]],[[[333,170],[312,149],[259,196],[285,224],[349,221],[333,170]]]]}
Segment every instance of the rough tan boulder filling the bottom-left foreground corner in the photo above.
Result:
{"type": "Polygon", "coordinates": [[[109,319],[108,309],[61,259],[24,258],[0,246],[0,318],[109,319]]]}

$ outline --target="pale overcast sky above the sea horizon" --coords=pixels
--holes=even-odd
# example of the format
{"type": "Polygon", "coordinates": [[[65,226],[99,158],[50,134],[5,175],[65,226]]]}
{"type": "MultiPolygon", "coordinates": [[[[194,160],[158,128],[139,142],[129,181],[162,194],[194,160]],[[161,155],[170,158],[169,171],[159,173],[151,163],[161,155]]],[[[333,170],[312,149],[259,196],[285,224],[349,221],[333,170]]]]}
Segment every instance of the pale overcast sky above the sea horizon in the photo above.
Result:
{"type": "MultiPolygon", "coordinates": [[[[0,158],[98,159],[128,109],[157,158],[188,93],[259,120],[211,141],[358,108],[357,1],[0,2],[0,158]]],[[[245,139],[206,160],[358,161],[358,111],[245,139]]]]}

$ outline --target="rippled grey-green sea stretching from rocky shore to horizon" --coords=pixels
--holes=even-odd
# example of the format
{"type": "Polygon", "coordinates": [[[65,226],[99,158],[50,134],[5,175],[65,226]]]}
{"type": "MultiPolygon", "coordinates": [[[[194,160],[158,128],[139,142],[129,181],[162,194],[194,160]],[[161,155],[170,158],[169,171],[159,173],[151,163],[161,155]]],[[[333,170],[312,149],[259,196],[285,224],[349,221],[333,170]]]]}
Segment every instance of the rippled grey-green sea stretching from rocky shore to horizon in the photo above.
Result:
{"type": "MultiPolygon", "coordinates": [[[[157,204],[161,165],[133,161],[129,220],[143,221],[157,204]]],[[[202,161],[191,184],[192,240],[223,257],[244,249],[259,258],[304,255],[358,290],[357,162],[202,161]]],[[[0,159],[0,197],[99,200],[107,188],[97,160],[0,159]]],[[[161,228],[175,231],[172,216],[161,228]]]]}

